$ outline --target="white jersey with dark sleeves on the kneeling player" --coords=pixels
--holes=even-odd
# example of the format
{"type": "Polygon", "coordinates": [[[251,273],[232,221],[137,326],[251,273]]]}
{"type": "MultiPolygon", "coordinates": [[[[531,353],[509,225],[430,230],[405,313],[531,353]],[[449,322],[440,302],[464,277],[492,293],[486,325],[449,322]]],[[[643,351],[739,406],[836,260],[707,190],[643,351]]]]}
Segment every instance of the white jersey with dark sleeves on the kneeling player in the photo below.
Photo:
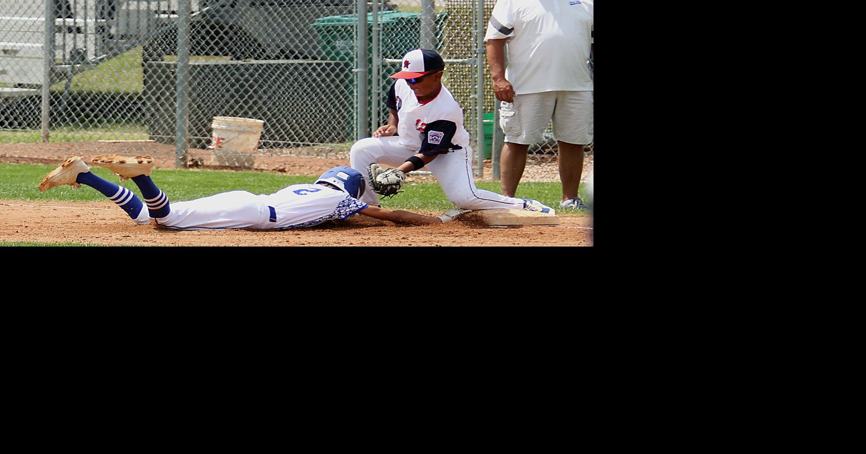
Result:
{"type": "Polygon", "coordinates": [[[397,135],[404,147],[438,155],[469,146],[463,108],[444,85],[436,98],[420,103],[406,80],[398,79],[391,85],[386,104],[397,111],[397,135]]]}

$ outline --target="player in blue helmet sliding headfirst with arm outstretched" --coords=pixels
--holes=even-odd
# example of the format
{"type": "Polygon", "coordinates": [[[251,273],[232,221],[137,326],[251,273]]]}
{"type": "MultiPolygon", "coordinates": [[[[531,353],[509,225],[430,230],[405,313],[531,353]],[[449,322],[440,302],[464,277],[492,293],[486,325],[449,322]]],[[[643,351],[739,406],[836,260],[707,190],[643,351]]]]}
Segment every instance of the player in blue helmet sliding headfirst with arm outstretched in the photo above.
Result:
{"type": "Polygon", "coordinates": [[[94,157],[92,163],[113,171],[121,182],[132,179],[145,201],[129,189],[95,176],[77,156],[67,158],[60,167],[51,170],[42,178],[39,189],[46,191],[64,184],[80,188],[85,184],[123,208],[136,224],[153,223],[180,230],[288,230],[346,219],[356,213],[404,224],[440,224],[454,221],[456,216],[469,211],[449,210],[434,217],[372,207],[358,200],[365,190],[365,180],[350,167],[328,169],[313,184],[293,184],[271,195],[229,191],[192,201],[170,202],[150,177],[155,163],[152,157],[101,155],[94,157]]]}

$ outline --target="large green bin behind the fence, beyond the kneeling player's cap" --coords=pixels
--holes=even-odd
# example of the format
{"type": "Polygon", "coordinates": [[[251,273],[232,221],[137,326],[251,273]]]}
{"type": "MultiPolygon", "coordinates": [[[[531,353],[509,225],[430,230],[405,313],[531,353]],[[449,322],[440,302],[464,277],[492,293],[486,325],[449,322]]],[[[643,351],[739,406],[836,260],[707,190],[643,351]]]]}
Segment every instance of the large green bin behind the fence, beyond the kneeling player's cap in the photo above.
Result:
{"type": "MultiPolygon", "coordinates": [[[[441,30],[443,23],[448,19],[448,12],[440,12],[436,14],[436,29],[441,30]]],[[[367,46],[372,47],[372,13],[367,13],[367,46]]],[[[322,60],[330,61],[355,61],[355,28],[358,26],[358,15],[344,16],[325,16],[320,17],[312,24],[313,29],[319,35],[317,43],[319,44],[319,57],[322,60]]],[[[406,52],[420,46],[421,37],[421,14],[409,13],[404,11],[380,11],[378,13],[378,25],[381,29],[379,35],[379,45],[383,59],[400,59],[406,52]]],[[[442,48],[442,33],[436,38],[436,48],[442,48]]],[[[370,86],[367,89],[367,97],[372,99],[372,86],[376,84],[376,78],[372,77],[372,52],[369,52],[367,59],[367,75],[371,80],[370,86]]],[[[383,96],[387,95],[388,90],[394,80],[388,76],[397,72],[397,66],[393,65],[393,71],[389,71],[389,65],[383,64],[382,79],[378,81],[381,84],[383,96]]],[[[346,89],[348,93],[355,92],[355,79],[351,78],[351,86],[346,89]]],[[[351,94],[350,94],[351,96],[351,94]]],[[[384,103],[384,99],[372,99],[374,105],[384,103]]],[[[353,100],[349,101],[347,106],[355,109],[353,100]]],[[[353,116],[353,115],[350,115],[353,116]]],[[[352,128],[349,136],[354,135],[352,128]]]]}

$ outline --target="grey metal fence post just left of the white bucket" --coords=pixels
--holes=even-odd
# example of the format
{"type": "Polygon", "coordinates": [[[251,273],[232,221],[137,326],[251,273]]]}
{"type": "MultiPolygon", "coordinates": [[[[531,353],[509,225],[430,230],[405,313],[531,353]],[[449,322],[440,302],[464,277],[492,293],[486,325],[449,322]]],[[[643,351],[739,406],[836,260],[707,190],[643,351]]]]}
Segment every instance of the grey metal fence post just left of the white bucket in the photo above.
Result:
{"type": "Polygon", "coordinates": [[[177,112],[175,123],[175,167],[186,167],[187,127],[190,115],[190,0],[178,2],[177,112]]]}

